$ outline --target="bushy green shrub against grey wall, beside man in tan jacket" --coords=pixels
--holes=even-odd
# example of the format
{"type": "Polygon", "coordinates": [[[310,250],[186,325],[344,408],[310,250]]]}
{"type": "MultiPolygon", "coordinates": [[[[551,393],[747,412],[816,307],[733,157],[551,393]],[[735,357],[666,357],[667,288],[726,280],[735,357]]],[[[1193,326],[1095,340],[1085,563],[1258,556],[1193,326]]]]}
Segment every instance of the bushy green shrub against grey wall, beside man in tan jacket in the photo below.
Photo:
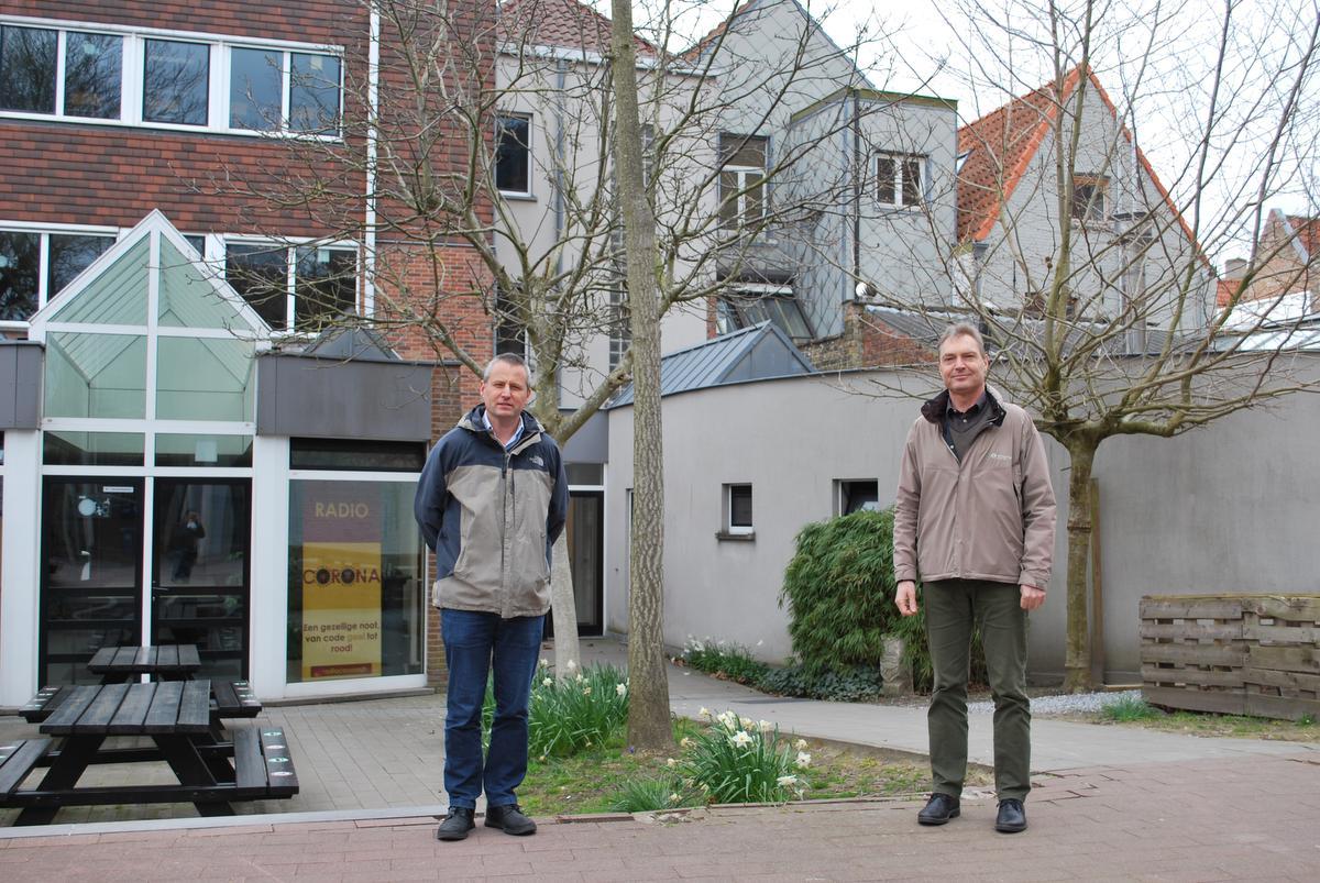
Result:
{"type": "MultiPolygon", "coordinates": [[[[854,512],[808,524],[784,572],[779,595],[788,608],[793,652],[809,676],[878,672],[884,635],[904,641],[913,686],[929,690],[925,607],[903,616],[894,603],[894,509],[854,512]]],[[[921,586],[917,583],[917,599],[921,586]]],[[[789,676],[785,676],[789,677],[789,676]]],[[[789,678],[792,680],[792,678],[789,678]]],[[[972,680],[985,681],[985,655],[973,638],[972,680]]]]}

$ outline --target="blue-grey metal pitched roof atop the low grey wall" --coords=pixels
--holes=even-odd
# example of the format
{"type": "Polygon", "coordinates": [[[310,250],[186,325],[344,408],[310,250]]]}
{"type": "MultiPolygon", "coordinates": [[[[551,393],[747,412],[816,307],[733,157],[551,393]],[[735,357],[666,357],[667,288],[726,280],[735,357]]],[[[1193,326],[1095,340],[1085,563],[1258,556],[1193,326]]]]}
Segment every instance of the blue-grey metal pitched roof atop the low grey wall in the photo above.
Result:
{"type": "MultiPolygon", "coordinates": [[[[777,326],[762,322],[661,356],[660,395],[803,374],[816,374],[816,367],[777,326]]],[[[630,383],[606,407],[631,404],[630,383]]]]}

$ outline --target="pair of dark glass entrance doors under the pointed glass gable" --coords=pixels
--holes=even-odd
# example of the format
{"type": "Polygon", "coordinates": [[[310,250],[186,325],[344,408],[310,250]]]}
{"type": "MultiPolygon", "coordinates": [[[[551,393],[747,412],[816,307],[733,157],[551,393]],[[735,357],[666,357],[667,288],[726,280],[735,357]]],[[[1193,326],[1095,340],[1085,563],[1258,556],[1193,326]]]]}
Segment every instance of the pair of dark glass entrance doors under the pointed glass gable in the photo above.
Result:
{"type": "Polygon", "coordinates": [[[40,682],[95,681],[92,653],[143,643],[246,677],[251,516],[247,478],[46,476],[40,682]]]}

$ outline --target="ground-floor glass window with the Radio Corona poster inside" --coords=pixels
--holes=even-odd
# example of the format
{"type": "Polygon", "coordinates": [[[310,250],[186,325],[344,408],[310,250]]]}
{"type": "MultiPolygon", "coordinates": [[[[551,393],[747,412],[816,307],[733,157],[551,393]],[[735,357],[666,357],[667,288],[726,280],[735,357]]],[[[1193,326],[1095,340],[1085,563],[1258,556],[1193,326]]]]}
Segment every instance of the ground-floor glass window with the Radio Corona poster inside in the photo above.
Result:
{"type": "Polygon", "coordinates": [[[289,483],[289,682],[418,674],[422,545],[412,482],[289,483]]]}

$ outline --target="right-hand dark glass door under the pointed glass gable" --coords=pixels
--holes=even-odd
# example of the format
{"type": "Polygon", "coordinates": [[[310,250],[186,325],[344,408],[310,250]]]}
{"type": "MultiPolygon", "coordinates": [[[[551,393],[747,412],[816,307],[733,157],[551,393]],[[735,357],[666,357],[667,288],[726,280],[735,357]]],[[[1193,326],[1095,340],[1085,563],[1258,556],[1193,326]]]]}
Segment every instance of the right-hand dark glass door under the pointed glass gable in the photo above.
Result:
{"type": "Polygon", "coordinates": [[[252,483],[154,482],[152,643],[197,644],[203,677],[247,677],[252,483]]]}

